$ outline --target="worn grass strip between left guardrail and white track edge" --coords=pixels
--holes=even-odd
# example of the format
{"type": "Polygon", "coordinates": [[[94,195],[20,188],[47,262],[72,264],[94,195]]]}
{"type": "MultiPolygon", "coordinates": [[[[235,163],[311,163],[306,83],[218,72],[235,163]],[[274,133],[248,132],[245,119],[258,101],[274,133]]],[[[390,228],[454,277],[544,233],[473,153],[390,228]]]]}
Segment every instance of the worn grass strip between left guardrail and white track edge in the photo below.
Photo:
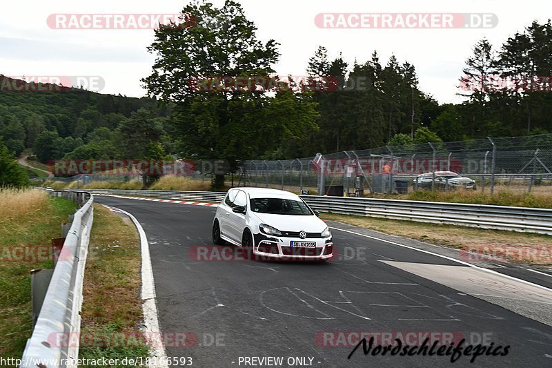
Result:
{"type": "Polygon", "coordinates": [[[95,205],[84,274],[81,313],[81,341],[84,342],[79,358],[143,357],[146,360],[149,347],[143,343],[144,337],[130,338],[142,336],[140,266],[139,238],[134,225],[95,205]],[[99,339],[101,343],[86,345],[88,336],[104,339],[99,339]],[[121,336],[129,338],[121,339],[121,336]]]}

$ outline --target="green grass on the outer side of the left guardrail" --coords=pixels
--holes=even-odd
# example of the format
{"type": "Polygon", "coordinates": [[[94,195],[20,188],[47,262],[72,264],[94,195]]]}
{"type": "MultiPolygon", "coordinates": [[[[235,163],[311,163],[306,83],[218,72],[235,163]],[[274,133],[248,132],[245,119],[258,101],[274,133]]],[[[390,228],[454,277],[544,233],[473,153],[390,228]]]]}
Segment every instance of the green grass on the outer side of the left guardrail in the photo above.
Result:
{"type": "MultiPolygon", "coordinates": [[[[0,200],[6,195],[0,192],[0,200]]],[[[33,202],[37,211],[21,206],[25,213],[0,218],[0,251],[8,246],[49,246],[52,238],[61,237],[60,224],[75,213],[75,204],[63,198],[45,194],[33,202]]],[[[31,336],[30,270],[42,268],[52,268],[52,262],[0,260],[0,356],[4,358],[20,358],[31,336]]]]}

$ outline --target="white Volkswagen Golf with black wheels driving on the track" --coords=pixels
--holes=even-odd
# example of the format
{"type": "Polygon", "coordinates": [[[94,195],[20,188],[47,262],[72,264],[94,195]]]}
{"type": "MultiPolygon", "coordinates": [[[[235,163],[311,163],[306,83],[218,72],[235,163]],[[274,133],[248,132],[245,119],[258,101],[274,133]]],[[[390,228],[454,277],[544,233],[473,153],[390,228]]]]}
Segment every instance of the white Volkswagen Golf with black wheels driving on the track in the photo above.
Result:
{"type": "Polygon", "coordinates": [[[242,246],[248,258],[326,260],[330,229],[298,196],[267,188],[232,188],[217,207],[213,242],[242,246]]]}

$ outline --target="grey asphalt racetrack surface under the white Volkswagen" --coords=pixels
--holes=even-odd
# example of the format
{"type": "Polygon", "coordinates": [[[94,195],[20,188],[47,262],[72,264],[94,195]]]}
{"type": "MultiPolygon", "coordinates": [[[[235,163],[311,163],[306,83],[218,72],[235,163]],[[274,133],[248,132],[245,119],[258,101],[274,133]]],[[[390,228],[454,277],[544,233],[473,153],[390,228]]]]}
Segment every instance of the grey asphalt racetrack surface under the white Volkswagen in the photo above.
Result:
{"type": "Polygon", "coordinates": [[[332,229],[329,262],[243,260],[213,246],[213,207],[96,202],[143,226],[160,329],[186,333],[184,344],[166,340],[166,355],[191,357],[193,367],[552,367],[549,276],[520,282],[333,222],[346,231],[332,229]],[[359,336],[374,337],[373,347],[349,359],[359,336]],[[373,354],[395,338],[490,348],[473,363],[473,351],[454,363],[451,355],[373,354]]]}

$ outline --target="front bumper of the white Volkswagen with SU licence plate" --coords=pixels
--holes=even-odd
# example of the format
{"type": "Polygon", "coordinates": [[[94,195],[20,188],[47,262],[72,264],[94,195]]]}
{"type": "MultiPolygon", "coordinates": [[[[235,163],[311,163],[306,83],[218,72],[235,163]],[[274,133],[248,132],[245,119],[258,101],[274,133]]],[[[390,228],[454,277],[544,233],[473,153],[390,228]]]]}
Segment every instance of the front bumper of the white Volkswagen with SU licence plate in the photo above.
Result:
{"type": "Polygon", "coordinates": [[[273,237],[262,233],[253,236],[253,254],[260,259],[272,260],[327,260],[333,256],[333,240],[330,238],[273,237]],[[315,242],[315,248],[290,246],[291,242],[315,242]]]}

